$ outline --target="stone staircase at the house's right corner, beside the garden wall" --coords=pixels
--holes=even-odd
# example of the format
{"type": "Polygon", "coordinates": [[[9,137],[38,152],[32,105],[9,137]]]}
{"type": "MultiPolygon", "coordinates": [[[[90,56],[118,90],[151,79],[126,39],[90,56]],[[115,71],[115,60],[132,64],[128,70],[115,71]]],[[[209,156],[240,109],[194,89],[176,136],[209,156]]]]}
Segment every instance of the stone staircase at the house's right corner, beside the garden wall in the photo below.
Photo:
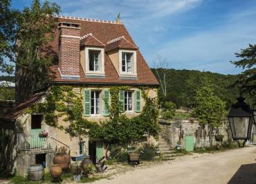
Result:
{"type": "Polygon", "coordinates": [[[174,156],[181,156],[183,154],[177,153],[174,149],[172,149],[168,140],[159,135],[158,138],[158,147],[160,149],[160,154],[163,160],[172,160],[174,156]]]}

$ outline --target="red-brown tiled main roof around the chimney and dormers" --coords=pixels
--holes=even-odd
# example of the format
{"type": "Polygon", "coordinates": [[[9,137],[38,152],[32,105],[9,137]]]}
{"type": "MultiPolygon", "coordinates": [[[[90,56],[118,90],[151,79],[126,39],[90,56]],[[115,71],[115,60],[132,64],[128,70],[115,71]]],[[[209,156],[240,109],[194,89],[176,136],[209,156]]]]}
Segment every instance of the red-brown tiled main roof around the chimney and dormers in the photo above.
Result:
{"type": "MultiPolygon", "coordinates": [[[[88,34],[92,34],[95,39],[98,39],[102,44],[107,46],[107,43],[112,39],[116,39],[118,37],[124,37],[125,39],[120,39],[120,46],[127,46],[131,48],[137,48],[134,40],[131,38],[124,24],[118,24],[113,21],[98,21],[92,19],[82,19],[75,17],[68,18],[57,18],[59,22],[70,22],[75,24],[80,24],[80,37],[88,34]]],[[[57,35],[57,32],[56,32],[57,35]]],[[[91,37],[91,36],[90,36],[91,37]]],[[[91,39],[91,41],[95,41],[95,39],[91,39]]],[[[91,42],[90,41],[90,42],[91,42]]],[[[93,41],[93,42],[94,42],[93,41]]],[[[85,42],[85,41],[84,41],[85,42]]],[[[89,41],[88,41],[89,42],[89,41]]],[[[51,44],[51,47],[57,53],[58,50],[58,37],[55,37],[55,40],[51,44]]],[[[108,47],[107,47],[108,48],[108,47]]],[[[80,67],[80,79],[79,80],[69,80],[63,79],[60,77],[60,72],[57,70],[57,66],[51,67],[52,71],[56,73],[55,79],[53,82],[77,82],[77,83],[97,83],[97,84],[134,84],[134,85],[158,85],[158,81],[156,77],[152,73],[151,69],[145,62],[143,55],[141,55],[140,50],[136,50],[137,52],[137,79],[124,79],[118,76],[116,68],[113,66],[111,60],[107,53],[105,53],[104,58],[104,68],[105,68],[105,77],[104,78],[89,78],[86,77],[82,67],[80,67]]]]}

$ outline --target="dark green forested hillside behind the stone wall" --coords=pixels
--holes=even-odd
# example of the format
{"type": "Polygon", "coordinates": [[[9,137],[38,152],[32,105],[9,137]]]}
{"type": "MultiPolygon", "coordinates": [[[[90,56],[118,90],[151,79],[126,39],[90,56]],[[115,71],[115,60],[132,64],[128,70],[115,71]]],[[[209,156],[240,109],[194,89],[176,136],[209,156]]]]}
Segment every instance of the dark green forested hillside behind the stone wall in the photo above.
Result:
{"type": "MultiPolygon", "coordinates": [[[[156,69],[152,68],[156,75],[156,69]]],[[[167,69],[165,71],[167,95],[164,98],[163,91],[159,89],[158,96],[161,103],[174,102],[177,107],[191,108],[193,106],[194,93],[197,88],[209,85],[214,94],[217,95],[223,102],[226,102],[228,109],[235,102],[239,89],[235,82],[237,75],[223,75],[220,73],[202,72],[193,70],[176,70],[167,69]]],[[[163,75],[163,72],[159,73],[163,75]]],[[[158,76],[156,75],[156,78],[158,76]]]]}

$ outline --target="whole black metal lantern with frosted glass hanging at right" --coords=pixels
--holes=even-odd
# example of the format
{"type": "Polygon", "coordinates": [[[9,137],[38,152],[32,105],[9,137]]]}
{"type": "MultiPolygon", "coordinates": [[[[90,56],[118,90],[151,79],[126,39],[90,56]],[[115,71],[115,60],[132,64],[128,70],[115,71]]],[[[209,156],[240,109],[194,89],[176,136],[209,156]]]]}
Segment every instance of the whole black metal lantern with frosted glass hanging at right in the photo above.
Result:
{"type": "Polygon", "coordinates": [[[239,96],[237,102],[232,104],[228,113],[228,121],[230,123],[232,138],[237,141],[239,147],[239,140],[246,140],[250,138],[250,131],[254,123],[254,113],[250,106],[244,102],[245,98],[239,96]]]}

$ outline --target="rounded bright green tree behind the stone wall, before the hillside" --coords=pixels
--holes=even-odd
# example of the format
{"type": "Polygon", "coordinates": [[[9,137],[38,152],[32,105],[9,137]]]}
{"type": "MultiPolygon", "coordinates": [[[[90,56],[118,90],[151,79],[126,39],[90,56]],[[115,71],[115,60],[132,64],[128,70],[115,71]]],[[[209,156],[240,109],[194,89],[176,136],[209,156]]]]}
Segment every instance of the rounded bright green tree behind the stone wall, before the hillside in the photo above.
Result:
{"type": "Polygon", "coordinates": [[[196,90],[192,116],[202,125],[219,127],[226,115],[226,104],[217,95],[214,95],[210,86],[202,86],[196,90]]]}

